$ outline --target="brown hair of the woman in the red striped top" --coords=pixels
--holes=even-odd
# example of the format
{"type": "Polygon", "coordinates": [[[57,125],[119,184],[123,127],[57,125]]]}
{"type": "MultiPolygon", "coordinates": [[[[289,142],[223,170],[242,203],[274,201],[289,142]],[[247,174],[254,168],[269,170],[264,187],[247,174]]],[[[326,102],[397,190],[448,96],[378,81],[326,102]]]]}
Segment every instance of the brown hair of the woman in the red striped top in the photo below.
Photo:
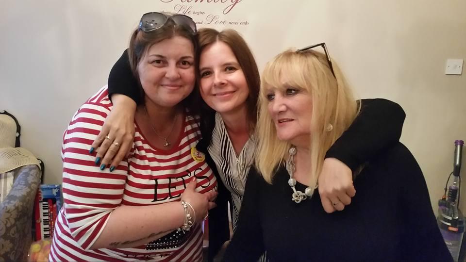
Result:
{"type": "MultiPolygon", "coordinates": [[[[170,16],[170,15],[166,15],[166,16],[170,16]]],[[[144,55],[146,54],[146,52],[150,49],[152,45],[162,42],[166,39],[170,39],[174,36],[182,36],[190,40],[193,43],[194,54],[196,57],[196,54],[198,53],[197,35],[194,35],[193,33],[191,33],[186,27],[182,25],[177,25],[171,19],[168,19],[166,23],[157,30],[154,30],[151,32],[144,32],[136,28],[133,34],[131,35],[130,45],[128,48],[128,57],[129,57],[129,62],[131,66],[131,71],[133,71],[133,75],[136,78],[137,82],[139,83],[140,94],[142,95],[142,98],[143,98],[141,100],[142,103],[144,103],[145,93],[139,81],[139,75],[137,73],[137,65],[139,64],[141,59],[144,57],[144,55]]],[[[197,60],[196,60],[195,66],[196,66],[196,71],[198,71],[197,60]]],[[[197,85],[197,82],[195,84],[197,85]]],[[[198,93],[198,92],[199,92],[198,88],[196,88],[195,86],[193,92],[187,98],[183,100],[184,106],[192,110],[194,108],[192,106],[193,103],[195,102],[194,100],[197,100],[197,97],[199,97],[199,95],[193,94],[193,93],[198,93]]]]}

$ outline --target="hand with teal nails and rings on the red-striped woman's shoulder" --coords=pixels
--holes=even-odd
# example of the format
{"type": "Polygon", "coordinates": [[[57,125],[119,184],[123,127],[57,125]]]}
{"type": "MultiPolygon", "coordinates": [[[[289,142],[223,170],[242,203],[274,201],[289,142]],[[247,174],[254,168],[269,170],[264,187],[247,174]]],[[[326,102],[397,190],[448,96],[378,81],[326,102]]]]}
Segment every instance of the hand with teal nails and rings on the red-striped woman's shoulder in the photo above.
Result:
{"type": "Polygon", "coordinates": [[[92,153],[97,148],[96,164],[103,170],[111,163],[110,171],[118,166],[131,149],[136,112],[136,103],[129,97],[114,94],[112,101],[112,111],[89,150],[92,153]]]}

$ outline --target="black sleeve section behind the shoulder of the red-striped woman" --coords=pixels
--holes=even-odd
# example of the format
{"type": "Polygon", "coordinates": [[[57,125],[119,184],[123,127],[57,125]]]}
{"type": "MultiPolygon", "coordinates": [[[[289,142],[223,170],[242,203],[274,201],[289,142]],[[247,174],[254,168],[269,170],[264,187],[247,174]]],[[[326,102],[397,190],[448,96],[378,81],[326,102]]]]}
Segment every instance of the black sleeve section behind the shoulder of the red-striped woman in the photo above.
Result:
{"type": "Polygon", "coordinates": [[[133,99],[136,104],[141,102],[139,82],[131,71],[128,49],[113,65],[108,76],[108,97],[112,99],[113,94],[122,94],[133,99]]]}

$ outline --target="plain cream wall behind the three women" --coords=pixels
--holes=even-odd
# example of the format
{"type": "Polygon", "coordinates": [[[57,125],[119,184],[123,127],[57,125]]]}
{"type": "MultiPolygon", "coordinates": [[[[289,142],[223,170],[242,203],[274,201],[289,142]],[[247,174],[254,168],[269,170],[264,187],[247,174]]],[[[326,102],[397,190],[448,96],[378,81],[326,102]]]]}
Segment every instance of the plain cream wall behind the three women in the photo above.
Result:
{"type": "Polygon", "coordinates": [[[204,26],[210,14],[247,21],[230,27],[245,36],[261,68],[287,47],[325,41],[361,98],[389,98],[404,108],[401,140],[436,206],[453,142],[466,140],[466,76],[444,74],[446,59],[466,59],[464,0],[240,0],[226,15],[232,0],[189,1],[0,0],[0,109],[19,119],[22,146],[45,161],[46,183],[61,182],[62,133],[106,84],[140,16],[186,4],[205,12],[191,14],[204,26]]]}

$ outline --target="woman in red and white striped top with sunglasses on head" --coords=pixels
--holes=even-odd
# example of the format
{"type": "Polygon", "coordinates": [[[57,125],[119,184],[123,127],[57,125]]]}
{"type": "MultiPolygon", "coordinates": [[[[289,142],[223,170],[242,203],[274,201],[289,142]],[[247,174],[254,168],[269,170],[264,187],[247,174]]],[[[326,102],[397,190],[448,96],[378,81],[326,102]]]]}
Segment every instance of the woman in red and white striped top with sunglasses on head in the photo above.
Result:
{"type": "Polygon", "coordinates": [[[89,155],[113,107],[107,87],[73,116],[63,137],[64,207],[50,261],[202,261],[200,222],[215,206],[217,182],[196,150],[195,35],[187,16],[142,16],[128,49],[142,103],[130,155],[118,165],[105,168],[89,155]]]}

